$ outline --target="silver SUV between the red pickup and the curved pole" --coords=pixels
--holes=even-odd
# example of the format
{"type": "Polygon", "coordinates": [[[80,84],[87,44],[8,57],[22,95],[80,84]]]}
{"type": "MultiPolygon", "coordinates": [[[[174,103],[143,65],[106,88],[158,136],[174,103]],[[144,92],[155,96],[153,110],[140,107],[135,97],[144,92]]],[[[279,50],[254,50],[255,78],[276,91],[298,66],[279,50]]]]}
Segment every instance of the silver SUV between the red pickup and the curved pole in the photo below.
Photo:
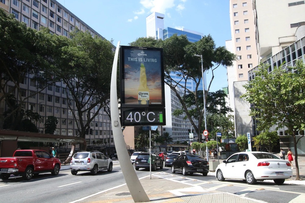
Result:
{"type": "Polygon", "coordinates": [[[99,151],[79,151],[71,159],[70,169],[72,175],[78,171],[91,171],[96,175],[98,171],[112,171],[112,160],[99,151]]]}

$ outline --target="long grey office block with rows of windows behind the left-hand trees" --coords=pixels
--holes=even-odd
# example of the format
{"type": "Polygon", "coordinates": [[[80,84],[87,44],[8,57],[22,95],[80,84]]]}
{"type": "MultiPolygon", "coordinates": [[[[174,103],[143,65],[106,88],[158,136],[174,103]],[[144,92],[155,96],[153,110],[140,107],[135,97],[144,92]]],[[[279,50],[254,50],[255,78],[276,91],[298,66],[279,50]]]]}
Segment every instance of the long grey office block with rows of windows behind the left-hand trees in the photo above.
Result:
{"type": "MultiPolygon", "coordinates": [[[[14,14],[16,20],[24,22],[28,27],[36,30],[39,30],[40,27],[48,27],[53,34],[70,37],[69,33],[78,27],[81,31],[88,31],[92,37],[96,35],[102,37],[55,0],[0,0],[0,8],[7,13],[14,14]]],[[[115,47],[113,47],[114,50],[115,47]]],[[[23,96],[19,98],[15,92],[17,100],[24,99],[37,92],[35,83],[36,81],[31,80],[30,76],[24,78],[22,84],[20,84],[23,96]]],[[[37,123],[40,133],[44,132],[44,123],[47,117],[55,116],[59,120],[55,134],[78,136],[77,120],[72,115],[72,111],[77,114],[77,109],[75,105],[72,105],[72,108],[74,108],[72,111],[68,108],[66,94],[70,95],[70,93],[66,91],[65,87],[66,85],[63,82],[57,82],[56,85],[48,86],[40,93],[26,98],[23,109],[30,109],[42,116],[37,123]]],[[[10,88],[9,84],[6,88],[10,88]]],[[[90,117],[93,116],[96,109],[88,112],[91,115],[90,117]]],[[[0,104],[0,111],[4,112],[6,110],[7,106],[4,103],[0,104]]],[[[90,123],[92,133],[89,131],[86,135],[88,145],[107,143],[107,146],[114,146],[111,122],[106,111],[107,109],[101,109],[99,115],[90,123]]],[[[87,114],[84,115],[86,118],[87,114]]]]}

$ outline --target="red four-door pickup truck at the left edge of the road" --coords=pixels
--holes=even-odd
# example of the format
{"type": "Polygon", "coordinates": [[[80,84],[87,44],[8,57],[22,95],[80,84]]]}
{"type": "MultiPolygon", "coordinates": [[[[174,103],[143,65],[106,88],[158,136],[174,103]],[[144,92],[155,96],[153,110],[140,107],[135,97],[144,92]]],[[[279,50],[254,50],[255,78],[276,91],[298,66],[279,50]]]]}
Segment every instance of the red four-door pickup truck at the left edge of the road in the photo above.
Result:
{"type": "Polygon", "coordinates": [[[16,150],[13,157],[0,157],[0,179],[11,174],[30,180],[34,174],[51,172],[56,176],[61,167],[60,160],[43,150],[16,150]]]}

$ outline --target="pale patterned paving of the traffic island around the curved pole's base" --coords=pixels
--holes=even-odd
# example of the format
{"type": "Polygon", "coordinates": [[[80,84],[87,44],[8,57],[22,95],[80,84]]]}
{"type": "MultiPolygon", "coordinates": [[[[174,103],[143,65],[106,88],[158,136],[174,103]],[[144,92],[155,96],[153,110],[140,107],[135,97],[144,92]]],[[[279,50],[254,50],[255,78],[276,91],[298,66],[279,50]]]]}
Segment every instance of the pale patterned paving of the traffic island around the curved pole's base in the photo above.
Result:
{"type": "MultiPolygon", "coordinates": [[[[222,160],[219,160],[220,162],[222,160]]],[[[294,167],[293,177],[287,179],[284,184],[302,184],[305,185],[305,157],[298,157],[300,178],[303,181],[295,180],[296,169],[294,167]]],[[[295,162],[292,162],[295,166],[295,162]]],[[[215,176],[215,172],[208,173],[208,176],[215,176]]],[[[217,179],[215,178],[215,181],[217,179]]],[[[267,180],[265,180],[267,181],[267,180]]],[[[273,180],[270,180],[273,182],[273,180]]],[[[264,202],[241,195],[235,195],[227,192],[219,192],[219,186],[210,181],[200,181],[192,179],[192,176],[176,176],[171,173],[159,172],[140,179],[140,182],[148,195],[150,202],[169,203],[169,202],[264,202]]],[[[245,184],[245,187],[247,185],[245,184]]],[[[131,203],[134,202],[126,184],[91,194],[73,202],[91,202],[91,203],[131,203]]],[[[294,201],[294,202],[303,202],[294,201]]]]}

